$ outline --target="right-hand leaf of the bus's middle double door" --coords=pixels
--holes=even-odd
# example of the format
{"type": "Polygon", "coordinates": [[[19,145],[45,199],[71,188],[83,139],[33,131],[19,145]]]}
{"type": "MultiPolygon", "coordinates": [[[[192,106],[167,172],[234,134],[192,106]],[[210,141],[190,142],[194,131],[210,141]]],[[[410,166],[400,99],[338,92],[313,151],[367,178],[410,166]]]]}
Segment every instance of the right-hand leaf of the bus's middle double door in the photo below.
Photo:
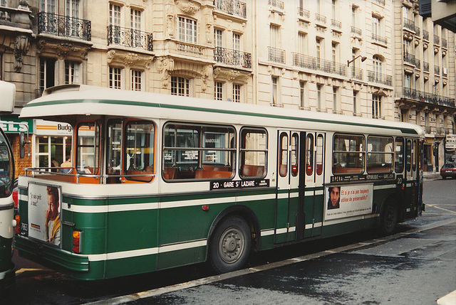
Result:
{"type": "Polygon", "coordinates": [[[299,225],[298,238],[321,235],[324,211],[324,160],[326,134],[301,132],[300,206],[304,224],[299,225]]]}

